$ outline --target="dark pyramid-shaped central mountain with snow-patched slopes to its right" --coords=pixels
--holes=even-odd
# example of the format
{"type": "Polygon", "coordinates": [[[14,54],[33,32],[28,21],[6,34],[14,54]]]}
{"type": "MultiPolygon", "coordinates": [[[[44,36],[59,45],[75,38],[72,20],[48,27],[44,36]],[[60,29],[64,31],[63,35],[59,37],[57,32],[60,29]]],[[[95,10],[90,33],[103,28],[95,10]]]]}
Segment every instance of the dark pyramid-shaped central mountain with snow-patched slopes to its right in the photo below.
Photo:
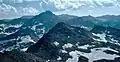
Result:
{"type": "Polygon", "coordinates": [[[27,52],[53,62],[69,62],[74,59],[79,62],[92,62],[106,55],[116,58],[120,56],[120,46],[117,45],[120,35],[115,34],[118,32],[119,29],[103,26],[96,26],[88,31],[61,22],[44,34],[36,44],[30,46],[27,52]],[[117,44],[111,38],[116,39],[117,44]],[[95,59],[91,58],[97,55],[95,59]]]}

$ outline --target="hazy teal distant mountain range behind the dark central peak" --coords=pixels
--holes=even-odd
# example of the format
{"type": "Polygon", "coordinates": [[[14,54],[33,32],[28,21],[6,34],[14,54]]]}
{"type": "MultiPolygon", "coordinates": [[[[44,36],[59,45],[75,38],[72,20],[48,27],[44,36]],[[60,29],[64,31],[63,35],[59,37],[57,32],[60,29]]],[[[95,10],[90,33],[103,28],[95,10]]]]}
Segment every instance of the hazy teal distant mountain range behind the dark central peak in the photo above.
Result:
{"type": "Polygon", "coordinates": [[[29,45],[34,44],[42,37],[43,34],[49,31],[58,22],[65,22],[72,26],[81,27],[91,30],[94,26],[109,26],[120,28],[120,16],[105,15],[100,17],[83,16],[77,17],[72,15],[55,15],[50,11],[43,12],[36,16],[23,16],[12,20],[0,21],[0,47],[1,50],[12,50],[14,48],[24,49],[29,45]],[[27,38],[27,39],[26,39],[27,38]],[[32,40],[32,41],[31,41],[32,40]],[[8,42],[9,41],[9,42],[8,42]],[[14,41],[14,42],[11,42],[14,41]],[[8,43],[10,45],[8,45],[8,43]],[[22,47],[20,47],[23,45],[22,47]],[[11,46],[11,47],[10,47],[11,46]]]}

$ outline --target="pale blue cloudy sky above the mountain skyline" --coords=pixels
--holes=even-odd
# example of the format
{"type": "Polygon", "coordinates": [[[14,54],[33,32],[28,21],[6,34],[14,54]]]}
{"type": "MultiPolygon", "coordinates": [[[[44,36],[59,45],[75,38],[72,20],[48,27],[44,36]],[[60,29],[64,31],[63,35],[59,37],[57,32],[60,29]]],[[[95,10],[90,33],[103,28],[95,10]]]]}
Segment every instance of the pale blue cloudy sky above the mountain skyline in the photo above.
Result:
{"type": "Polygon", "coordinates": [[[46,10],[77,16],[119,15],[120,0],[0,0],[0,18],[36,15],[46,10]]]}

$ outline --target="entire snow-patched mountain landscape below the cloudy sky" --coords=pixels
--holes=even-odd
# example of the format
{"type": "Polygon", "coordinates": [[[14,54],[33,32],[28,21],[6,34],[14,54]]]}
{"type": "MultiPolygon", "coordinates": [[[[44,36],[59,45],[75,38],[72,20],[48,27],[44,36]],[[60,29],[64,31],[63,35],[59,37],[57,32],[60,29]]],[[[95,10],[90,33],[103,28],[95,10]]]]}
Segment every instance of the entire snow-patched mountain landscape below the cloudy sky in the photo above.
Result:
{"type": "Polygon", "coordinates": [[[0,20],[0,62],[120,62],[120,15],[0,20]]]}

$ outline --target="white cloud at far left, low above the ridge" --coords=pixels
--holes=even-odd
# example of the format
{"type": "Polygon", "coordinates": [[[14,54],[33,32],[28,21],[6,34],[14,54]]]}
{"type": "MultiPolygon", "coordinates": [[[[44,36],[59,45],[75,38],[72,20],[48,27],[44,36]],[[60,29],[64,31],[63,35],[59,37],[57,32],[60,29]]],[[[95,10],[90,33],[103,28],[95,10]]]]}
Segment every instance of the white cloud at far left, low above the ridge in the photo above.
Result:
{"type": "Polygon", "coordinates": [[[0,18],[13,18],[25,15],[36,15],[38,12],[39,11],[33,7],[20,7],[18,9],[14,6],[4,3],[0,5],[0,18]]]}

